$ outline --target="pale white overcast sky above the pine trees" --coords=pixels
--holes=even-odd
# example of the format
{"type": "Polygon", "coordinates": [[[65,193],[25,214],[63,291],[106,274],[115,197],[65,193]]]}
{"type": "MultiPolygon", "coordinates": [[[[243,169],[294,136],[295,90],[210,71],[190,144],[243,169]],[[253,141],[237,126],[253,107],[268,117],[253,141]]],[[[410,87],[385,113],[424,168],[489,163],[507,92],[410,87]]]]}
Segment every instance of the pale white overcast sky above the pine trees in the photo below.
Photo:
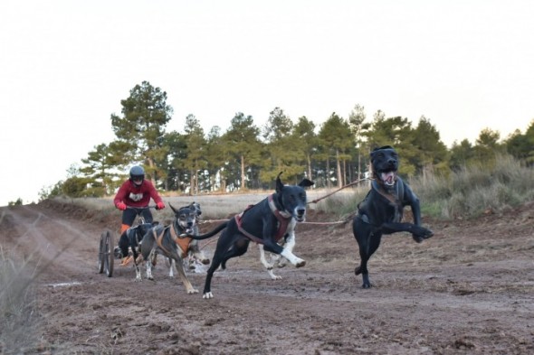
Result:
{"type": "Polygon", "coordinates": [[[534,118],[532,1],[0,2],[0,206],[65,180],[113,138],[142,81],[167,92],[167,132],[207,134],[274,107],[320,126],[365,107],[430,120],[443,143],[534,118]]]}

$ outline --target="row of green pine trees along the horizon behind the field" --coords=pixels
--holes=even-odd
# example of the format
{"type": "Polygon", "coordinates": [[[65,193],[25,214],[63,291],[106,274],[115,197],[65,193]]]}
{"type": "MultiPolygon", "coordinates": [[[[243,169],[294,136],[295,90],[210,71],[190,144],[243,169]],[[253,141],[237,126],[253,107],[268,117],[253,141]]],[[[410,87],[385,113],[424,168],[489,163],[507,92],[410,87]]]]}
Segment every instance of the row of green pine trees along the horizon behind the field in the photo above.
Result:
{"type": "Polygon", "coordinates": [[[225,132],[220,126],[205,132],[189,115],[179,133],[166,130],[173,115],[167,92],[148,81],[120,104],[121,114],[110,117],[115,139],[95,145],[66,180],[43,188],[42,200],[110,196],[136,163],[162,192],[272,189],[280,172],[287,183],[306,176],[316,187],[341,187],[366,176],[368,153],[381,145],[395,146],[406,177],[447,175],[473,163],[491,164],[501,154],[534,164],[534,120],[525,133],[516,129],[501,140],[498,131],[485,128],[474,145],[464,139],[448,149],[426,117],[412,126],[407,118],[386,117],[380,110],[367,117],[360,105],[348,117],[333,112],[320,126],[304,116],[293,121],[281,107],[272,109],[264,126],[237,112],[225,132]]]}

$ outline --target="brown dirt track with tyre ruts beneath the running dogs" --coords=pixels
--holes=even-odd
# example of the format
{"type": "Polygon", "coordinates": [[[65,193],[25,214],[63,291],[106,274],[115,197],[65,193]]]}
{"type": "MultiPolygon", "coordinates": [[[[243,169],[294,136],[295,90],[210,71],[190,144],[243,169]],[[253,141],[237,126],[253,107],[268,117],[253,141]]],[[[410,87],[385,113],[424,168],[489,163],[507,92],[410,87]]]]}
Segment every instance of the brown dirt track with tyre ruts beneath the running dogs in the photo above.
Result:
{"type": "MultiPolygon", "coordinates": [[[[52,201],[0,213],[3,248],[33,260],[42,253],[45,353],[534,353],[534,202],[477,220],[424,219],[434,238],[421,244],[385,237],[368,290],[354,275],[350,223],[300,224],[294,251],[306,266],[276,269],[282,279],[273,281],[251,245],[215,273],[211,300],[202,270],[188,274],[200,293],[186,294],[162,260],[155,281],[136,283],[133,268],[117,263],[112,277],[98,274],[100,233],[117,229],[118,213],[52,201]]],[[[307,222],[329,221],[309,211],[307,222]]],[[[201,245],[211,257],[215,243],[201,245]]]]}

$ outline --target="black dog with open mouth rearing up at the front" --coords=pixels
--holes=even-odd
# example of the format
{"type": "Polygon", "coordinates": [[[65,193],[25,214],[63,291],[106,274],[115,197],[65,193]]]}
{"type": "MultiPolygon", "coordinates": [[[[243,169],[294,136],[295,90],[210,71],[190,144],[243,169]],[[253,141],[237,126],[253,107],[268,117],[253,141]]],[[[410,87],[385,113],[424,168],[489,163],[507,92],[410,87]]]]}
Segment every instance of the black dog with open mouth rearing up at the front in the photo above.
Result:
{"type": "Polygon", "coordinates": [[[364,201],[358,204],[358,215],[352,222],[352,231],[358,241],[360,265],[354,270],[363,277],[363,288],[371,287],[367,261],[377,251],[383,234],[412,233],[417,243],[433,236],[421,227],[419,200],[407,183],[397,176],[398,155],[386,145],[371,153],[373,182],[364,201]],[[409,205],[414,223],[401,223],[403,208],[409,205]]]}

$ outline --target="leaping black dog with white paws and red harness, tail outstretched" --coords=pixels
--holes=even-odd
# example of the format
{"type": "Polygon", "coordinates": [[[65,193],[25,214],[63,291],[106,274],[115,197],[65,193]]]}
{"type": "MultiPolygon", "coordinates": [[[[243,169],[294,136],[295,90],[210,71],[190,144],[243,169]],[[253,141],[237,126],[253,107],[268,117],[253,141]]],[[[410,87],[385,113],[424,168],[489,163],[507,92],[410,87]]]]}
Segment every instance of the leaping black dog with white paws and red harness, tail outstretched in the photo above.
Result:
{"type": "MultiPolygon", "coordinates": [[[[205,277],[203,298],[213,298],[211,281],[215,270],[224,265],[231,257],[242,256],[252,241],[263,245],[265,251],[287,258],[292,265],[301,267],[306,264],[300,257],[296,257],[291,247],[283,248],[277,242],[289,234],[294,237],[297,222],[306,217],[306,191],[304,187],[313,185],[308,179],[303,179],[298,185],[284,185],[276,178],[276,192],[259,203],[249,206],[243,213],[234,216],[217,228],[201,236],[191,238],[201,240],[215,236],[224,229],[217,240],[217,247],[213,261],[205,277]]],[[[294,245],[294,243],[293,243],[294,245]]]]}

